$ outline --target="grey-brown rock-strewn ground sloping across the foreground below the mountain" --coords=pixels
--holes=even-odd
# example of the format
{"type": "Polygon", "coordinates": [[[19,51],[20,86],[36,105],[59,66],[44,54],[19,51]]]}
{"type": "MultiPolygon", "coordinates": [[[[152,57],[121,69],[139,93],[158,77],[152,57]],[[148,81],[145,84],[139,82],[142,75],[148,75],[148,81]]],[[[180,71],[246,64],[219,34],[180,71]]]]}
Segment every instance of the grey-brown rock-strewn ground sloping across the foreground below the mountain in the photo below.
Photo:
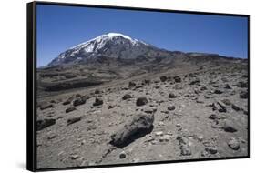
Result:
{"type": "Polygon", "coordinates": [[[248,97],[247,63],[38,97],[37,168],[247,156],[248,97]]]}

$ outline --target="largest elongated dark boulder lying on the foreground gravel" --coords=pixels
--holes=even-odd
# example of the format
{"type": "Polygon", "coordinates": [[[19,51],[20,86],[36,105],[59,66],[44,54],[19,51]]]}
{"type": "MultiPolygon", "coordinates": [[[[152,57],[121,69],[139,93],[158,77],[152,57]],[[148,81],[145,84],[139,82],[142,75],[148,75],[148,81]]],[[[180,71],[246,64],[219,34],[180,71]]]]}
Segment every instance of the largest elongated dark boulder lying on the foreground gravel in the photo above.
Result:
{"type": "Polygon", "coordinates": [[[122,148],[133,142],[139,137],[150,133],[153,129],[154,115],[139,114],[132,118],[121,129],[111,135],[110,144],[122,148]]]}

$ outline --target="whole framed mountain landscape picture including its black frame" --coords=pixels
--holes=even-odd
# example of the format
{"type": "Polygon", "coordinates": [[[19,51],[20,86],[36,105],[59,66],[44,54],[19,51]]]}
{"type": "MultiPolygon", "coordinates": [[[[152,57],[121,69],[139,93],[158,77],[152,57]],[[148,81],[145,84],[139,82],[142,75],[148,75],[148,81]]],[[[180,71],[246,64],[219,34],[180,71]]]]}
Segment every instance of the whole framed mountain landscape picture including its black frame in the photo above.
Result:
{"type": "Polygon", "coordinates": [[[250,157],[250,16],[27,4],[27,169],[250,157]]]}

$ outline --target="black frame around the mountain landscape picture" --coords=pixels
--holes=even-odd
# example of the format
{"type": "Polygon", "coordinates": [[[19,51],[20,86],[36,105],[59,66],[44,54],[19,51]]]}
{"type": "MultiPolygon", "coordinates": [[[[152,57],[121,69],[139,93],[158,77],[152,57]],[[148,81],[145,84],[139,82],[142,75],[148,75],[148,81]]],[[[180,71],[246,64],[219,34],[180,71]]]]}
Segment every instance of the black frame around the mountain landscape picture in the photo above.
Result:
{"type": "Polygon", "coordinates": [[[211,13],[211,12],[197,12],[197,11],[182,11],[170,9],[151,9],[142,7],[128,7],[128,6],[112,6],[112,5],[83,5],[70,3],[54,3],[36,1],[26,5],[26,28],[27,28],[27,87],[26,87],[26,168],[30,171],[49,171],[49,170],[66,170],[78,168],[108,168],[108,167],[123,167],[135,165],[148,164],[167,164],[179,162],[193,162],[193,161],[209,161],[209,160],[223,160],[235,158],[250,158],[250,15],[239,14],[225,14],[225,13],[211,13]],[[248,156],[230,157],[230,158],[206,158],[206,159],[188,159],[188,160],[169,160],[169,161],[154,161],[143,163],[128,163],[128,164],[112,164],[112,165],[97,165],[87,167],[74,168],[36,168],[36,5],[62,5],[62,6],[79,6],[79,7],[94,7],[94,8],[108,8],[108,9],[122,9],[122,10],[136,10],[136,11],[154,11],[164,13],[177,14],[197,14],[197,15],[223,15],[223,16],[241,16],[248,20],[248,156]]]}

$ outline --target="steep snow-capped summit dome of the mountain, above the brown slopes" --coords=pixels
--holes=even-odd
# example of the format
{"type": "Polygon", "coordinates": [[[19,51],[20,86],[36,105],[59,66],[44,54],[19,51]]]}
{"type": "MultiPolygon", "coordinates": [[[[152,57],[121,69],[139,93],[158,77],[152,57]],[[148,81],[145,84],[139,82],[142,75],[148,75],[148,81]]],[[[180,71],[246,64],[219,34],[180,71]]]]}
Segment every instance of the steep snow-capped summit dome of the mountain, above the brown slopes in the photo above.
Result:
{"type": "Polygon", "coordinates": [[[165,52],[129,36],[108,33],[67,49],[48,66],[86,63],[101,57],[136,59],[141,56],[156,55],[159,51],[165,52]]]}

